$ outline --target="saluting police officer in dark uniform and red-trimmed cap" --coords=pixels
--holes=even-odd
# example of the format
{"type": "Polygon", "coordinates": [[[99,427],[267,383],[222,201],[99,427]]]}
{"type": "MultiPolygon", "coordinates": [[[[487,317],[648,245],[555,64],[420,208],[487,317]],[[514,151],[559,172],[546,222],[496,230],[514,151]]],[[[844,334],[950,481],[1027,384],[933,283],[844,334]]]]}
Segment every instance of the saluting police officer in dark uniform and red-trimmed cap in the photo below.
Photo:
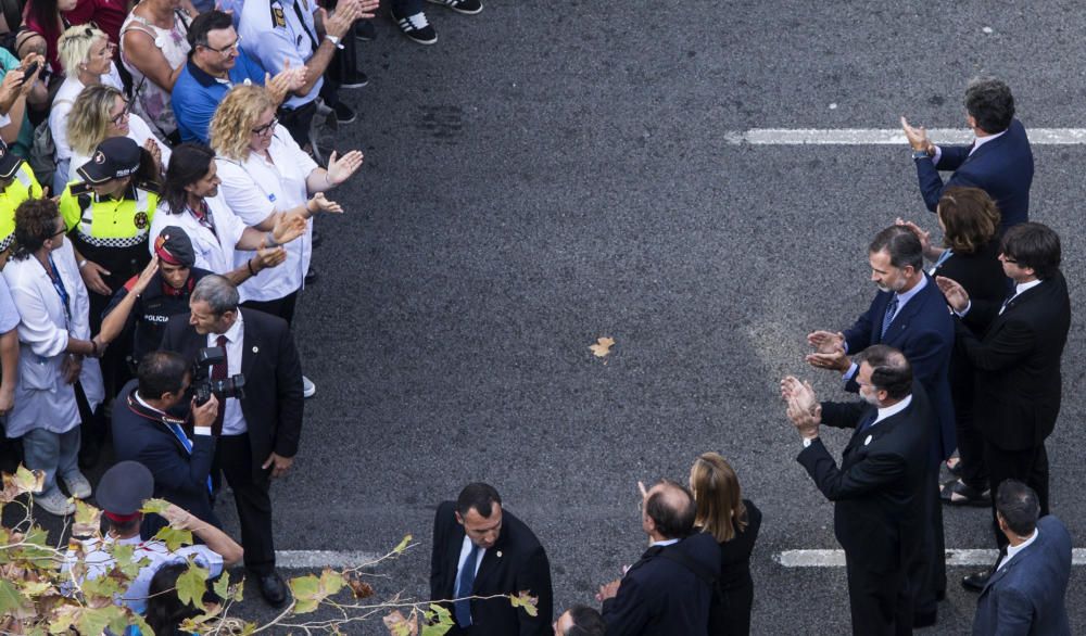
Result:
{"type": "Polygon", "coordinates": [[[169,317],[189,313],[189,293],[200,279],[212,274],[194,267],[194,263],[195,253],[185,230],[177,226],[163,228],[154,239],[151,262],[113,294],[103,313],[99,338],[110,343],[131,333],[132,362],[156,351],[169,317]]]}

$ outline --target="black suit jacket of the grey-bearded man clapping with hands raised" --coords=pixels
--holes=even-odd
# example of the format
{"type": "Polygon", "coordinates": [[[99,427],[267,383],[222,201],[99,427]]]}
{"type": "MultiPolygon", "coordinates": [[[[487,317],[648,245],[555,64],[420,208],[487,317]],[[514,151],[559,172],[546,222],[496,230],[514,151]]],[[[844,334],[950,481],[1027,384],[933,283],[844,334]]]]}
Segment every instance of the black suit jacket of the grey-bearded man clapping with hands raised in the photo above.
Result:
{"type": "MultiPolygon", "coordinates": [[[[856,428],[875,410],[863,402],[822,403],[822,422],[856,428]]],[[[815,440],[797,461],[834,503],[833,527],[849,559],[872,572],[905,572],[924,535],[924,474],[933,418],[927,396],[913,382],[905,410],[853,433],[841,467],[815,440]]]]}

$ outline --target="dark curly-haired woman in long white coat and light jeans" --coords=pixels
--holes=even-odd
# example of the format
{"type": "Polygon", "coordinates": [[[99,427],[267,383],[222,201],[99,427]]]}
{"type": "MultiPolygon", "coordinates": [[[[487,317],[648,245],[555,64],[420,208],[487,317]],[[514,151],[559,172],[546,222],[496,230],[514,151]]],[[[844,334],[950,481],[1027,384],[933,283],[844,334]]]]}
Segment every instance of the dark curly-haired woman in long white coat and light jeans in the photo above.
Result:
{"type": "Polygon", "coordinates": [[[91,410],[105,393],[93,359],[103,347],[90,338],[87,288],[65,230],[53,201],[22,203],[15,211],[17,247],[3,270],[20,315],[18,384],[7,434],[23,438],[26,467],[46,473],[34,503],[58,516],[75,511],[58,487],[58,478],[73,497],[90,496],[90,483],[79,472],[74,384],[83,385],[91,410]]]}

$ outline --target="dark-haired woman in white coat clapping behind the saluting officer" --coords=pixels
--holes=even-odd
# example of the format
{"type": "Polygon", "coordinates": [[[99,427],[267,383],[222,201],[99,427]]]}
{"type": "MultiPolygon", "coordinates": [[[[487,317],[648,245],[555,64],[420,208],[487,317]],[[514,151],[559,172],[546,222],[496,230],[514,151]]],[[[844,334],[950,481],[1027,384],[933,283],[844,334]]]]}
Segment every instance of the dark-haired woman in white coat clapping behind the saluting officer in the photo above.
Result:
{"type": "MultiPolygon", "coordinates": [[[[215,151],[202,143],[178,145],[166,170],[151,236],[157,237],[169,226],[180,228],[192,242],[195,267],[241,285],[262,270],[281,265],[287,259],[281,245],[304,234],[306,222],[295,214],[281,215],[257,227],[247,226],[219,194],[216,173],[215,151]],[[256,255],[236,264],[236,250],[255,251],[256,255]]],[[[153,241],[148,249],[153,256],[153,241]]]]}

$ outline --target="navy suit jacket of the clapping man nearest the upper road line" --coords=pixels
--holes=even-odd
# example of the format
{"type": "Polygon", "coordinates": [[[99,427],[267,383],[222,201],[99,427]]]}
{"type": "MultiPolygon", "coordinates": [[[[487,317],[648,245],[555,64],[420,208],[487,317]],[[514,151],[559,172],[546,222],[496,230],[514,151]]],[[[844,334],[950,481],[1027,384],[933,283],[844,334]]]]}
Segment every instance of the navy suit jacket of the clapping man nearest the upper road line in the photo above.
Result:
{"type": "Polygon", "coordinates": [[[969,154],[972,145],[940,145],[938,165],[929,160],[915,160],[920,192],[927,209],[943,196],[943,190],[954,186],[980,188],[996,201],[1002,216],[1002,229],[1030,220],[1030,186],[1033,183],[1033,151],[1025,128],[1018,119],[1005,135],[985,142],[969,154]],[[946,185],[939,170],[954,170],[946,185]]]}

